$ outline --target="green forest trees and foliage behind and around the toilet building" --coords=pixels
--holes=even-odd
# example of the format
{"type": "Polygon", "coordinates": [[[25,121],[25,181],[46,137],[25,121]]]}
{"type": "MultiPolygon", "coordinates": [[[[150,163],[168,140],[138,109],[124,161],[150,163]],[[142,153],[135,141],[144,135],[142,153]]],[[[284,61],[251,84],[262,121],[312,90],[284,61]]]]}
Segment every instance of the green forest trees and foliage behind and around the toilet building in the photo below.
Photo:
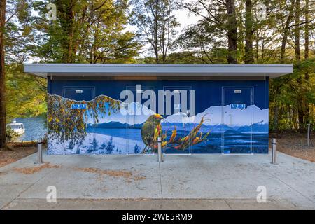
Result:
{"type": "Polygon", "coordinates": [[[6,0],[4,28],[7,120],[47,111],[46,82],[25,62],[230,63],[293,64],[269,81],[269,128],[314,124],[314,1],[6,0]],[[181,27],[179,12],[198,20],[181,27]]]}

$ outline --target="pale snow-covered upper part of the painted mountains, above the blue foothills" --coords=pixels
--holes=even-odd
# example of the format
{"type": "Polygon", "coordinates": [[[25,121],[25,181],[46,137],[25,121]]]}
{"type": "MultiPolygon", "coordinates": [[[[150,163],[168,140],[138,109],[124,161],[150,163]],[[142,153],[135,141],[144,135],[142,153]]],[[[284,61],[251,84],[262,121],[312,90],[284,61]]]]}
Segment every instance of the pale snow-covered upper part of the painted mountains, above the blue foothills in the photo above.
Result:
{"type": "MultiPolygon", "coordinates": [[[[111,116],[104,116],[99,119],[99,123],[122,123],[127,125],[141,125],[146,122],[149,116],[155,112],[148,109],[143,104],[133,102],[125,106],[127,109],[120,109],[117,113],[112,113],[111,116]],[[139,113],[136,113],[136,108],[139,113]]],[[[186,113],[176,113],[170,116],[164,116],[162,124],[170,123],[200,123],[204,117],[203,125],[221,125],[221,123],[230,127],[252,125],[254,123],[268,124],[268,109],[260,109],[258,106],[251,105],[246,109],[231,109],[227,106],[210,106],[202,113],[197,113],[195,116],[188,116],[186,113]]]]}

